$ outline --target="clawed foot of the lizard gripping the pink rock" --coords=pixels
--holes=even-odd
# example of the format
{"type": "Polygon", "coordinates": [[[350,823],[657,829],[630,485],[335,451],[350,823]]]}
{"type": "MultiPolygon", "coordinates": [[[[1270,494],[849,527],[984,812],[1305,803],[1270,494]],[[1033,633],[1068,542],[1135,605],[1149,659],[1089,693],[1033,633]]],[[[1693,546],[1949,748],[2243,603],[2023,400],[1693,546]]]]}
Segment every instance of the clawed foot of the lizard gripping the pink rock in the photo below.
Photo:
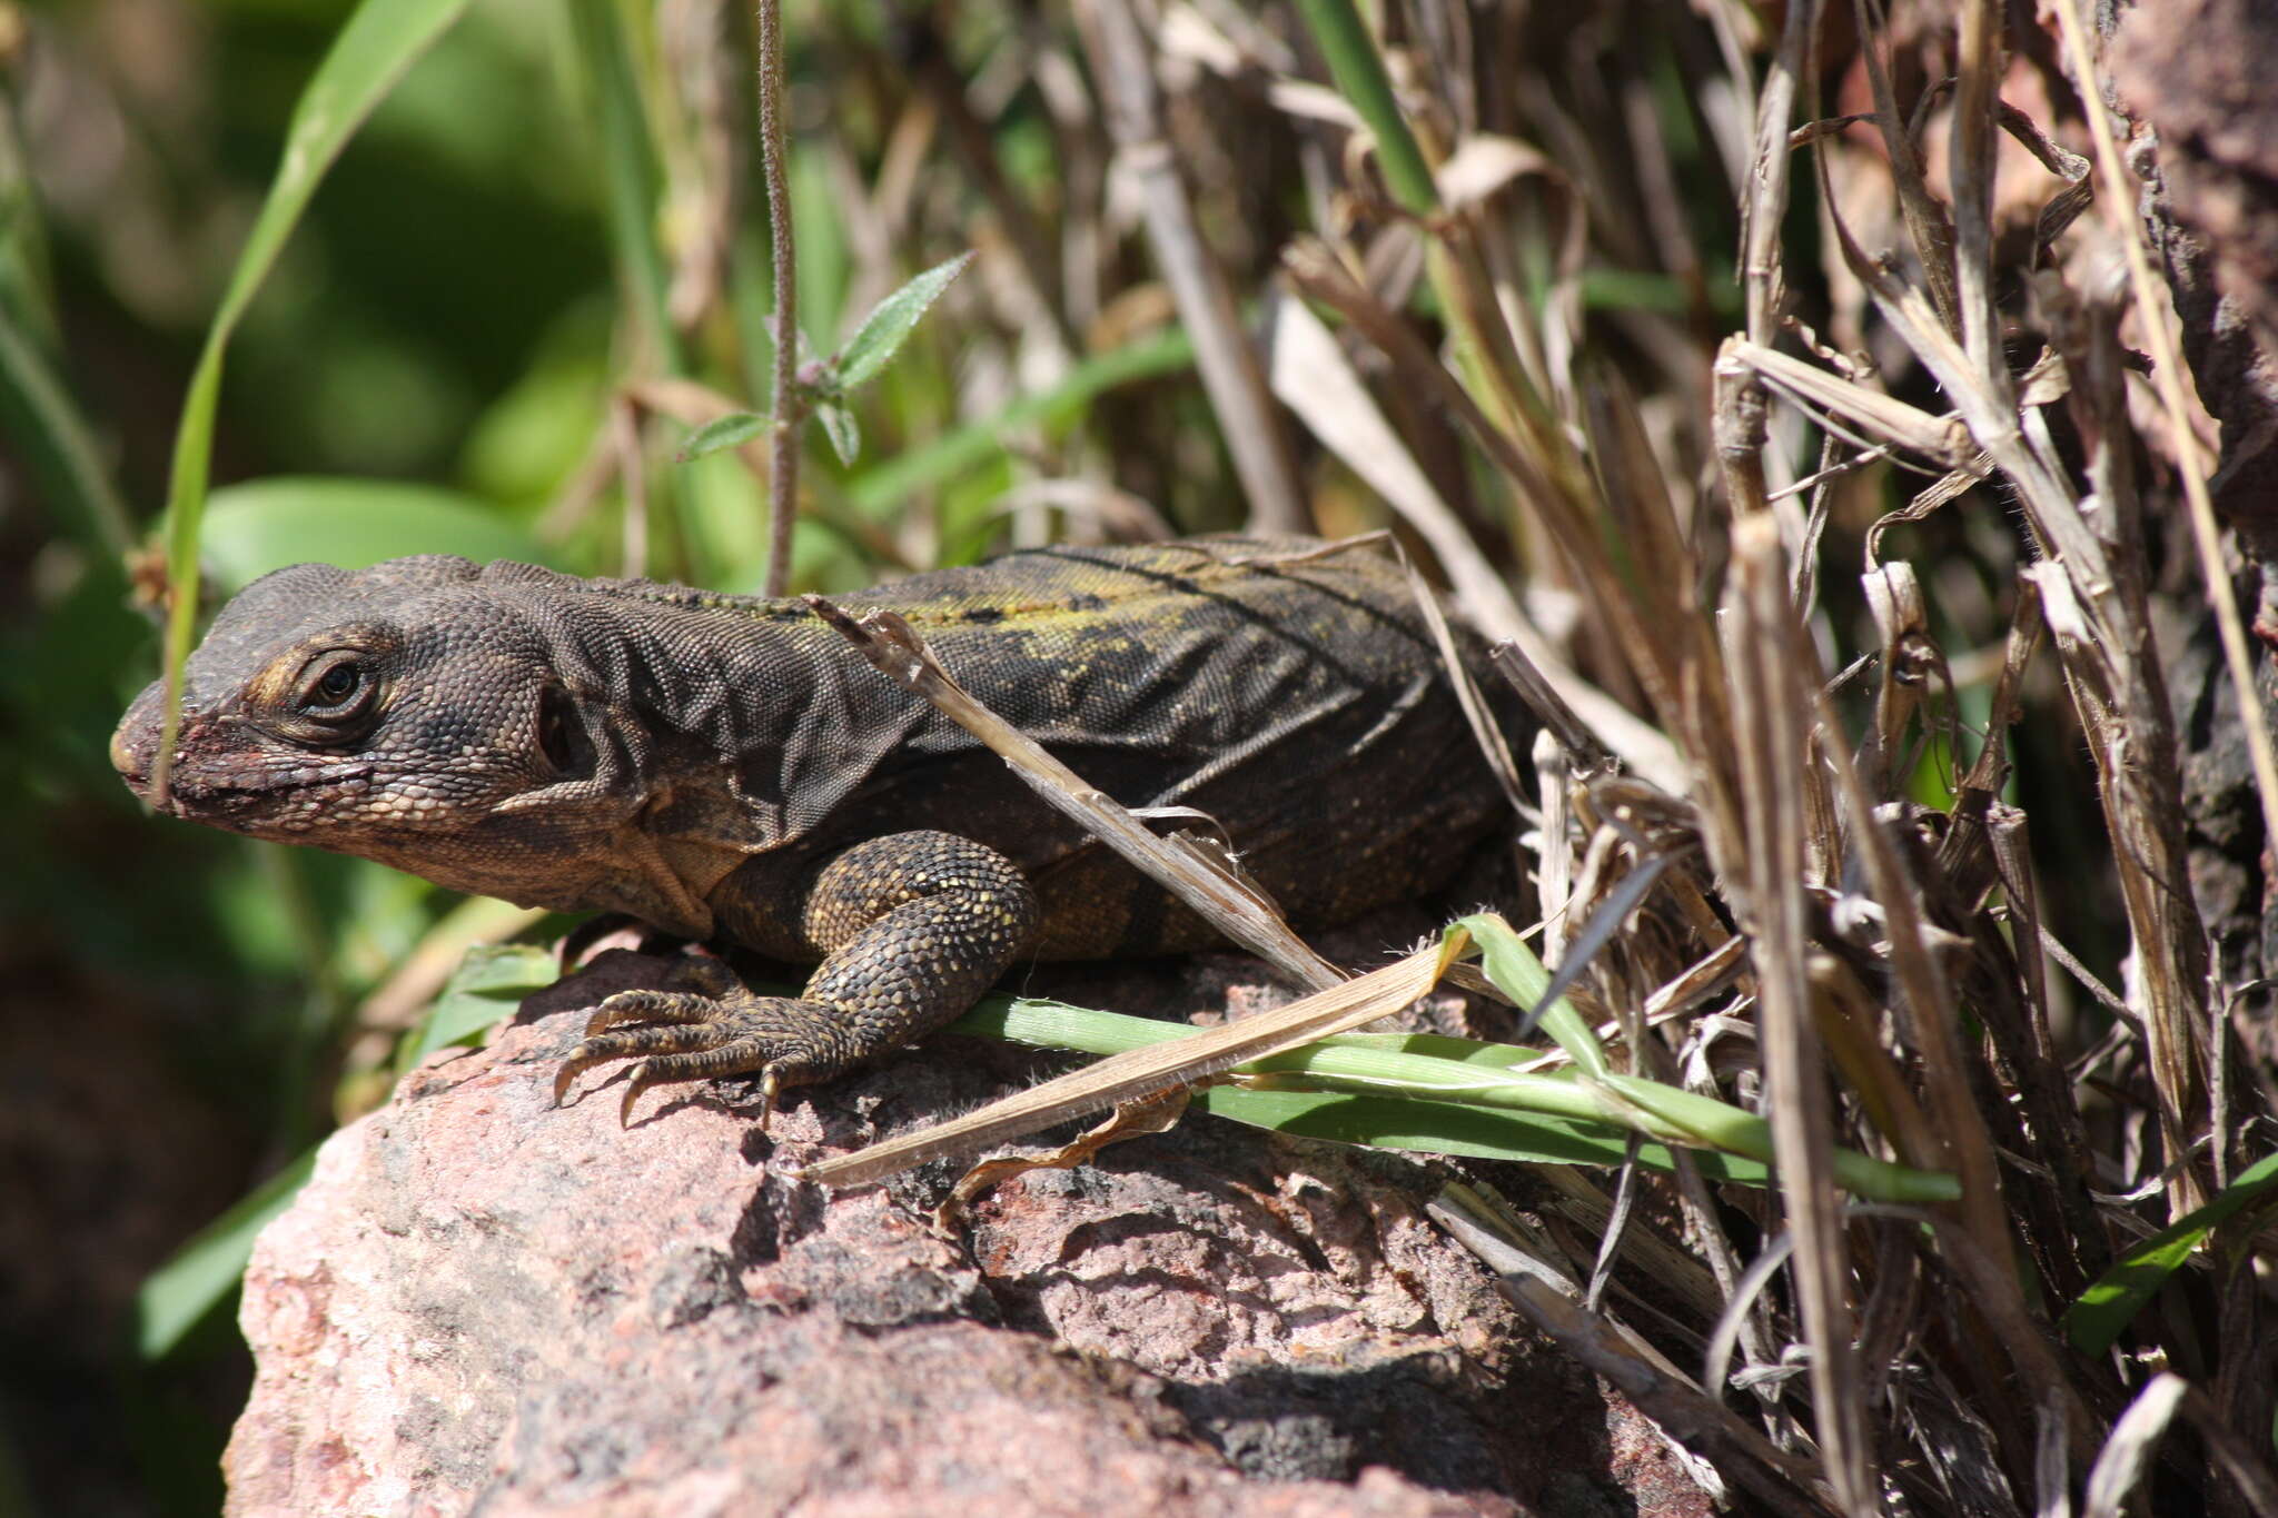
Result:
{"type": "Polygon", "coordinates": [[[743,988],[706,997],[686,990],[622,990],[592,1010],[554,1074],[560,1106],[576,1076],[595,1065],[638,1058],[617,1120],[631,1124],[640,1092],[667,1081],[759,1074],[761,1127],[786,1083],[811,1081],[843,1065],[834,1058],[834,1008],[795,997],[754,997],[743,988]],[[620,1029],[638,1022],[642,1026],[620,1029]]]}

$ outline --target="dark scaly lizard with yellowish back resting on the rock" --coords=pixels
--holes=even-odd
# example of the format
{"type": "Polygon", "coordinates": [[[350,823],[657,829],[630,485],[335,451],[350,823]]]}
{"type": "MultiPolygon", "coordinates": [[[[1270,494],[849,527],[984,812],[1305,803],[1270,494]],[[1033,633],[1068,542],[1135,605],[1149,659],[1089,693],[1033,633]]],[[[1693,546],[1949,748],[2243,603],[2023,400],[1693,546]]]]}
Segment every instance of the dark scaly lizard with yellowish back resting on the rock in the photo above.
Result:
{"type": "MultiPolygon", "coordinates": [[[[966,690],[1134,808],[1219,822],[1292,926],[1431,892],[1508,810],[1406,576],[1303,537],[1057,546],[841,596],[900,612],[966,690]]],[[[1456,628],[1467,662],[1478,640],[1456,628]]],[[[1501,683],[1497,721],[1524,724],[1501,683]]],[[[1214,933],[1048,808],[802,601],[417,555],[278,569],[112,762],[189,822],[519,906],[624,913],[816,965],[718,958],[604,999],[558,1067],[759,1074],[763,1111],[952,1022],[1021,960],[1214,933]]]]}

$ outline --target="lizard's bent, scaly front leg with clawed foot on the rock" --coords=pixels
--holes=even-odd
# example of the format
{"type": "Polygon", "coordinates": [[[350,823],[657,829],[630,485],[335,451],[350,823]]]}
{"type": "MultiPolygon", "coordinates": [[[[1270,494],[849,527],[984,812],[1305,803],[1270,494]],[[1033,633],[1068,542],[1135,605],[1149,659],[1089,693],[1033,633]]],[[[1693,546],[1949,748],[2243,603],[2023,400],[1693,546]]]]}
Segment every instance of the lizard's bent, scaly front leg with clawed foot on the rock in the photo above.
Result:
{"type": "Polygon", "coordinates": [[[802,904],[802,931],[825,954],[804,992],[759,997],[718,960],[690,965],[697,990],[617,992],[563,1061],[554,1099],[579,1072],[638,1056],[626,1120],[649,1086],[756,1072],[765,1122],[784,1086],[825,1081],[959,1017],[1011,967],[1039,915],[1014,863],[970,838],[857,844],[816,874],[802,904]]]}

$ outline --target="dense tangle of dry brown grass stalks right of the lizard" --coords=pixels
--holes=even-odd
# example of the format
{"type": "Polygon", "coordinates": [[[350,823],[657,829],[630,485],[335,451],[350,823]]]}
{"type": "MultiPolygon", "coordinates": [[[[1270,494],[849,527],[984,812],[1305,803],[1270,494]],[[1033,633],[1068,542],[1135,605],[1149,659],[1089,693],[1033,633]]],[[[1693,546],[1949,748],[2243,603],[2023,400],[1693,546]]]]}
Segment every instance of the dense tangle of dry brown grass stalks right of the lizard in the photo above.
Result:
{"type": "MultiPolygon", "coordinates": [[[[2246,676],[2201,419],[2114,123],[2066,73],[2096,39],[2071,0],[2014,18],[1410,0],[1371,80],[1339,0],[1077,0],[954,100],[866,100],[888,141],[986,123],[1016,77],[1046,100],[1055,193],[975,171],[968,371],[1146,312],[1194,332],[1230,476],[1107,407],[1021,446],[1057,487],[1023,498],[1153,482],[1191,523],[1191,482],[1230,478],[1257,521],[1346,530],[1365,482],[1563,740],[1533,756],[1544,958],[1590,954],[1626,1072],[1772,1120],[1775,1193],[1565,1172],[1579,1236],[1451,1195],[1513,1300],[1743,1504],[2273,1511],[2267,1195],[2109,1331],[2064,1318],[2273,1129],[2155,642],[2205,587],[2246,676]],[[1836,1147],[1961,1199],[1845,1202],[1836,1147]],[[1624,1281],[1654,1249],[1690,1313],[1624,1281]]],[[[929,205],[902,162],[870,187],[888,228],[929,205]]]]}

